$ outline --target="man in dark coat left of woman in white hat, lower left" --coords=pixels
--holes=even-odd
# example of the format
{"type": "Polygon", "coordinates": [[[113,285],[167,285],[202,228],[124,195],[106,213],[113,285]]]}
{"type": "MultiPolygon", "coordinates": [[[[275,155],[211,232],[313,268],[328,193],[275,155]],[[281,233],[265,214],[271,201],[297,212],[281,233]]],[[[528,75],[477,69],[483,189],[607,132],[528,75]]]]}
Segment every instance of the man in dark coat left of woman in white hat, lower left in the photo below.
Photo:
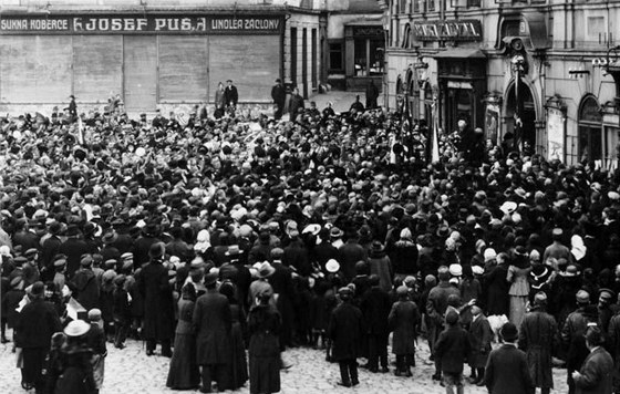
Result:
{"type": "Polygon", "coordinates": [[[24,384],[42,393],[43,362],[52,334],[62,331],[62,326],[54,305],[44,300],[43,282],[32,284],[29,298],[31,302],[23,307],[16,324],[16,346],[22,349],[24,384]]]}

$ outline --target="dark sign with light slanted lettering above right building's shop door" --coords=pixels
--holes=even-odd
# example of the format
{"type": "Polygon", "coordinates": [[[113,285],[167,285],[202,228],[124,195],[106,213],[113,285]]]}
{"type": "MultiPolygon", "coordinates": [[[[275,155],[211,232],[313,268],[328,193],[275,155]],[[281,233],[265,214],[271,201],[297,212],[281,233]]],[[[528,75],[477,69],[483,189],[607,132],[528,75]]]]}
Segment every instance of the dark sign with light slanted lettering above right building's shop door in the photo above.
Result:
{"type": "Polygon", "coordinates": [[[413,35],[420,41],[482,41],[483,27],[478,20],[414,23],[413,35]]]}

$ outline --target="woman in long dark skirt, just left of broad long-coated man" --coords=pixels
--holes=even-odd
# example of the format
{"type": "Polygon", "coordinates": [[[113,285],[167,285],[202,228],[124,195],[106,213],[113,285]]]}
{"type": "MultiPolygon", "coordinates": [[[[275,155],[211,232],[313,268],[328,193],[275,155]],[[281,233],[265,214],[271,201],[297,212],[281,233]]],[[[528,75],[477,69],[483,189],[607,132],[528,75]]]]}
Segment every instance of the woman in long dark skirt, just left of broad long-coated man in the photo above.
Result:
{"type": "Polygon", "coordinates": [[[200,384],[200,371],[196,364],[196,338],[192,331],[196,289],[192,284],[185,284],[180,291],[178,323],[166,386],[174,390],[192,390],[200,384]]]}

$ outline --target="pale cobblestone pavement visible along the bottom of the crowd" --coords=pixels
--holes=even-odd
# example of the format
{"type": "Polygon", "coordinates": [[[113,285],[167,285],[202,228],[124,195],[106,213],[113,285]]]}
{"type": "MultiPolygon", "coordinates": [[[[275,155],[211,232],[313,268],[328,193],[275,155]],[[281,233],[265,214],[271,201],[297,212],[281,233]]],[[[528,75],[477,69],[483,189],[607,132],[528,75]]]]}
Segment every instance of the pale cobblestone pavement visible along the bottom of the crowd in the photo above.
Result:
{"type": "MultiPolygon", "coordinates": [[[[0,393],[24,393],[20,386],[20,373],[14,367],[12,343],[0,345],[0,393]]],[[[438,382],[433,382],[433,365],[427,361],[428,352],[425,341],[421,341],[416,354],[416,367],[413,377],[396,377],[393,372],[372,374],[360,369],[360,385],[354,388],[338,386],[339,370],[337,364],[324,361],[324,353],[311,349],[292,349],[285,353],[293,366],[282,371],[282,394],[326,394],[326,393],[400,393],[400,394],[434,394],[445,393],[438,382]]],[[[394,356],[391,354],[393,362],[394,356]]],[[[117,350],[108,344],[108,356],[105,361],[105,380],[101,394],[134,393],[178,393],[165,387],[169,360],[159,355],[146,356],[142,342],[128,341],[127,348],[117,350]]],[[[393,366],[391,366],[393,371],[393,366]]],[[[465,373],[469,373],[468,366],[465,373]]],[[[556,390],[552,393],[566,393],[566,370],[554,371],[556,390]]],[[[235,393],[247,393],[248,385],[235,393]]],[[[230,393],[230,392],[228,392],[230,393]]],[[[487,393],[485,387],[471,384],[465,393],[487,393]]]]}

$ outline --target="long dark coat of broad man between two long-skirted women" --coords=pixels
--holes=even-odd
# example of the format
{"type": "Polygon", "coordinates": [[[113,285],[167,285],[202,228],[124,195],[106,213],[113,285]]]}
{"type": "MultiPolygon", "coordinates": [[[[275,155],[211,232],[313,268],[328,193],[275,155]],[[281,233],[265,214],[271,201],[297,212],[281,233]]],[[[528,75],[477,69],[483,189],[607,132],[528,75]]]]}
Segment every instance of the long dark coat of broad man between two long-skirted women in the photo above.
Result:
{"type": "Polygon", "coordinates": [[[194,308],[192,325],[196,333],[196,360],[199,365],[228,364],[232,349],[228,335],[232,318],[226,296],[208,290],[194,308]]]}

